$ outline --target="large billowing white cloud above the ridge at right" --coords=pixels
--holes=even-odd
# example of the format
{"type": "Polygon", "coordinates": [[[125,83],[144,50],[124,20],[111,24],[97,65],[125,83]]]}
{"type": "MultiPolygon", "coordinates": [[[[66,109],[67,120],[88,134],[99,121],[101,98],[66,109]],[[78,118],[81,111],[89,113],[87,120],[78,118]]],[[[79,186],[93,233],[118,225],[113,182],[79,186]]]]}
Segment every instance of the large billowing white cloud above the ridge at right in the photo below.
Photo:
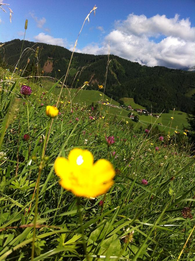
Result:
{"type": "Polygon", "coordinates": [[[147,66],[184,68],[195,65],[195,27],[189,18],[165,15],[147,18],[129,14],[126,20],[116,21],[115,28],[101,44],[92,43],[77,52],[118,55],[147,66]]]}

